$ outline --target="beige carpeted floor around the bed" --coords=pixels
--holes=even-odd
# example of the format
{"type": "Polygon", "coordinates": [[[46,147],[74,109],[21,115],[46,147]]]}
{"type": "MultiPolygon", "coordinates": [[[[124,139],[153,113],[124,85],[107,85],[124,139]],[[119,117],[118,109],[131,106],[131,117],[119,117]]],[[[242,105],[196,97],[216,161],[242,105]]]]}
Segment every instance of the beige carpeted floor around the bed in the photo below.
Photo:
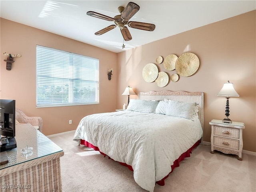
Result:
{"type": "MultiPolygon", "coordinates": [[[[133,172],[98,152],[78,146],[74,132],[50,137],[64,150],[60,158],[63,192],[146,192],[133,172]]],[[[256,192],[256,156],[226,155],[199,145],[154,192],[256,192]]]]}

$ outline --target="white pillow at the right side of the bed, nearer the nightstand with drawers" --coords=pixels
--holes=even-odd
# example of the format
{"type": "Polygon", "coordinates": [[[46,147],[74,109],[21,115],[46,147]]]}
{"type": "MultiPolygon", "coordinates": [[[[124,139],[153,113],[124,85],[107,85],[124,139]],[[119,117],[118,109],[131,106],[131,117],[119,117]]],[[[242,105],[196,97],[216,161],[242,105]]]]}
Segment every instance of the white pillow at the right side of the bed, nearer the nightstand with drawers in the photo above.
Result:
{"type": "Polygon", "coordinates": [[[160,101],[156,107],[156,113],[174,117],[192,119],[196,111],[196,103],[180,101],[160,101]]]}

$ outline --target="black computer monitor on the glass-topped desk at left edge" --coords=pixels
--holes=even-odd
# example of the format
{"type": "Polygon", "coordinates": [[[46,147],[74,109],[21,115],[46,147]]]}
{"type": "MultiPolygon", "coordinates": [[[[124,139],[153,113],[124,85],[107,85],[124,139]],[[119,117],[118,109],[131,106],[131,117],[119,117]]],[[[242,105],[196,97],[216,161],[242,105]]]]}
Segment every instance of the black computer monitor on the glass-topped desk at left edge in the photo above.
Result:
{"type": "Polygon", "coordinates": [[[0,99],[1,152],[16,148],[15,140],[15,100],[0,99]]]}

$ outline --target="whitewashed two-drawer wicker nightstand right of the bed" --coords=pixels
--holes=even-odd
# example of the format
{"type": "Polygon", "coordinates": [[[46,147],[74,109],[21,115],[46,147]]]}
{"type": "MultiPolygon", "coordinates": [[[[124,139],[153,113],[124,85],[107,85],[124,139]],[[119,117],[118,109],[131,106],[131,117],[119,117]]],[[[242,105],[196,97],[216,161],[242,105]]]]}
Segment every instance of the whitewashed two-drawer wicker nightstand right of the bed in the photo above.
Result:
{"type": "Polygon", "coordinates": [[[211,153],[218,150],[238,155],[238,160],[242,160],[244,123],[224,123],[222,120],[213,119],[209,124],[212,125],[211,153]]]}

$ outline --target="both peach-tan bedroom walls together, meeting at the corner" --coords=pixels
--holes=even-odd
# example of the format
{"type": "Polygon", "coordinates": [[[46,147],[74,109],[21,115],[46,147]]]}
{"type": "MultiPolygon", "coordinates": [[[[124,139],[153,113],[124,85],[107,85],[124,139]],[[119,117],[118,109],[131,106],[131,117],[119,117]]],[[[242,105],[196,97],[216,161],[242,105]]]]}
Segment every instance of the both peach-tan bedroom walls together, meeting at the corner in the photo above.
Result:
{"type": "MultiPolygon", "coordinates": [[[[127,103],[127,96],[122,96],[122,92],[130,85],[136,93],[150,90],[204,92],[204,141],[210,142],[209,121],[225,116],[226,99],[216,94],[229,80],[240,94],[239,98],[230,98],[230,119],[245,123],[244,150],[256,152],[256,11],[119,54],[2,18],[0,22],[0,97],[15,99],[16,106],[28,115],[41,116],[44,134],[75,130],[83,116],[122,108],[122,104],[127,103]],[[36,44],[99,58],[100,104],[36,108],[36,44]],[[14,59],[11,71],[5,69],[3,52],[22,55],[14,59]],[[179,56],[184,52],[193,52],[200,59],[196,74],[180,77],[178,82],[169,82],[164,88],[143,80],[142,68],[146,64],[156,63],[158,56],[179,56]],[[114,75],[108,81],[107,70],[111,67],[114,75]],[[70,119],[72,125],[68,124],[70,119]]],[[[158,65],[158,69],[169,76],[175,73],[175,70],[166,71],[163,64],[158,65]]]]}

